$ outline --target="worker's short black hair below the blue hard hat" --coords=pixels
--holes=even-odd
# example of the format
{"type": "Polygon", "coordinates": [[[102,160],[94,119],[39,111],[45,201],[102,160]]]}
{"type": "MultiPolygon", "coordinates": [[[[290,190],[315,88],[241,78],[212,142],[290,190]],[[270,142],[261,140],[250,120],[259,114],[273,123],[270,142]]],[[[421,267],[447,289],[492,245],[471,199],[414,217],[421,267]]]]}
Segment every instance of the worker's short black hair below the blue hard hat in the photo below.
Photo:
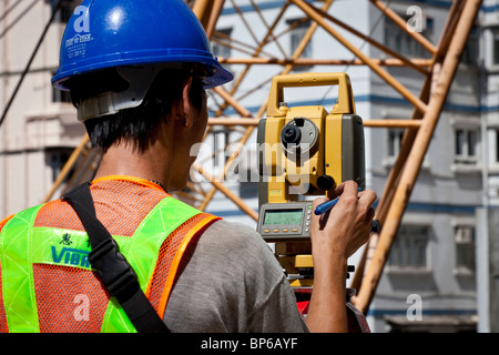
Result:
{"type": "MultiPolygon", "coordinates": [[[[154,142],[157,128],[169,120],[175,101],[182,100],[182,88],[191,77],[190,71],[163,69],[155,77],[142,103],[136,108],[120,110],[115,114],[84,121],[93,148],[105,153],[113,144],[130,142],[139,152],[154,142]]],[[[108,91],[123,91],[129,82],[115,69],[95,72],[70,83],[71,100],[78,108],[81,100],[108,91]]],[[[190,100],[196,110],[203,105],[202,81],[193,77],[190,100]]]]}

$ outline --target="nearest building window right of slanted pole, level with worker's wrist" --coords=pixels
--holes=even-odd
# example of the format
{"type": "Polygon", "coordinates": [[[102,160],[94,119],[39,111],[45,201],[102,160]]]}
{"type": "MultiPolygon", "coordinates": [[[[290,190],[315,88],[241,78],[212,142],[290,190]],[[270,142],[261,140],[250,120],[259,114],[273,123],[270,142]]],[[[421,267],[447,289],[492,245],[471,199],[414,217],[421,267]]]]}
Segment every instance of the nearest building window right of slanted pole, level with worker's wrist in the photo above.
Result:
{"type": "Polygon", "coordinates": [[[428,226],[401,225],[391,246],[388,264],[397,267],[426,268],[428,226]]]}

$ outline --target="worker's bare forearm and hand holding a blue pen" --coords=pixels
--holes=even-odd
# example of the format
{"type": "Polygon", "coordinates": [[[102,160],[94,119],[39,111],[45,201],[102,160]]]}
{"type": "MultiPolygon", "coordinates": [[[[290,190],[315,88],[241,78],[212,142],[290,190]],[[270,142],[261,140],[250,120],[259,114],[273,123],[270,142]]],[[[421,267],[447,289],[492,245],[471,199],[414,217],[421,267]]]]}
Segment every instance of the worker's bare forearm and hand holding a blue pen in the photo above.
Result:
{"type": "MultiPolygon", "coordinates": [[[[347,258],[367,242],[374,217],[371,190],[357,192],[347,181],[335,189],[338,203],[312,215],[310,241],[314,290],[306,318],[310,332],[347,332],[345,280],[347,258]]],[[[328,199],[318,197],[313,210],[328,199]]]]}

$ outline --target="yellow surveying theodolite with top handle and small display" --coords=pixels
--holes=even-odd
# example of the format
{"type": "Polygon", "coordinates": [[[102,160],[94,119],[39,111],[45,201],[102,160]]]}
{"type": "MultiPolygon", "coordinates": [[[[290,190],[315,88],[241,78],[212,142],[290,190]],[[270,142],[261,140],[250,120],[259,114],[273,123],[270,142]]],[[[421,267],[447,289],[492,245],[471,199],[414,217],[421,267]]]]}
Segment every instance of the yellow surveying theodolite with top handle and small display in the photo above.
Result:
{"type": "MultiPolygon", "coordinates": [[[[313,287],[308,233],[313,211],[307,196],[328,195],[329,190],[347,180],[365,189],[364,124],[355,112],[348,75],[275,77],[267,118],[258,123],[257,141],[257,230],[266,242],[275,243],[276,257],[299,301],[299,295],[309,295],[313,287]],[[285,102],[285,88],[319,85],[338,87],[338,101],[330,112],[320,105],[288,106],[285,102]]],[[[360,327],[365,328],[363,316],[360,316],[357,321],[364,322],[360,327]]]]}

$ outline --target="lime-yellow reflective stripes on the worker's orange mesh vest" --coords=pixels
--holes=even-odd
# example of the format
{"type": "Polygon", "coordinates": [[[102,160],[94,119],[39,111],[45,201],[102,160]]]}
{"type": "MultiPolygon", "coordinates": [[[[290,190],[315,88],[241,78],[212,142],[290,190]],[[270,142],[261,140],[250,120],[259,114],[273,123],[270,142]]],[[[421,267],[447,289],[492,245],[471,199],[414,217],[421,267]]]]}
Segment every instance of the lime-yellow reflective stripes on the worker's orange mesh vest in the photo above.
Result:
{"type": "MultiPolygon", "coordinates": [[[[88,261],[90,243],[85,232],[33,227],[37,214],[42,206],[18,213],[0,232],[2,301],[9,332],[40,332],[40,310],[34,294],[35,264],[91,270],[88,261]]],[[[172,253],[171,266],[159,304],[155,305],[161,316],[164,314],[179,263],[189,243],[198,231],[218,219],[200,213],[202,212],[169,196],[150,211],[131,237],[113,236],[120,246],[120,252],[135,271],[140,285],[147,296],[151,292],[152,275],[157,267],[160,248],[163,243],[173,245],[169,248],[169,253],[172,253]],[[189,227],[186,233],[172,233],[196,215],[202,217],[201,221],[185,226],[189,227]],[[174,240],[179,237],[181,240],[174,240]]],[[[78,304],[75,307],[78,308],[78,304]]],[[[84,317],[84,314],[75,313],[74,316],[84,317]]],[[[135,332],[114,297],[110,298],[106,306],[101,332],[135,332]]]]}

